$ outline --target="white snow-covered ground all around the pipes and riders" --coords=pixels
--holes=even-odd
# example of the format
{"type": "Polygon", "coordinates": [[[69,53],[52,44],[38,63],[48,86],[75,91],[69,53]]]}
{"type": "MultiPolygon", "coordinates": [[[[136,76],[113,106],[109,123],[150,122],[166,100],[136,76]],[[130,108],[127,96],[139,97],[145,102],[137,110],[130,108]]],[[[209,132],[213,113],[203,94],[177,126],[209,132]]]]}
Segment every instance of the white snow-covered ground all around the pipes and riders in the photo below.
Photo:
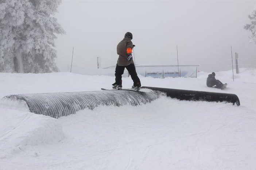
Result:
{"type": "MultiPolygon", "coordinates": [[[[225,90],[206,77],[140,77],[143,86],[234,93],[241,106],[178,101],[141,106],[100,106],[54,119],[9,109],[0,101],[0,169],[252,170],[256,169],[256,69],[217,72],[225,90]]],[[[9,94],[110,88],[114,77],[71,73],[0,73],[0,98],[9,94]]],[[[130,77],[123,87],[130,88],[130,77]]]]}

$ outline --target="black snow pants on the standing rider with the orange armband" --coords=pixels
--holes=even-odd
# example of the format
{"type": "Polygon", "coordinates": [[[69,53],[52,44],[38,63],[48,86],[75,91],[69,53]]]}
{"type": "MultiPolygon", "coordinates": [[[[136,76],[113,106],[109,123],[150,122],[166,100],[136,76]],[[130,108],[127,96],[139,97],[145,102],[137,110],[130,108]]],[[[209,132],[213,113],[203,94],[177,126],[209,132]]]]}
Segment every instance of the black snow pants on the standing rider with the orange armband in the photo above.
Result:
{"type": "Polygon", "coordinates": [[[129,74],[131,75],[131,78],[133,81],[133,86],[141,86],[140,79],[137,76],[134,64],[129,64],[127,66],[116,65],[116,71],[115,71],[116,82],[115,82],[115,84],[122,85],[122,74],[124,74],[124,68],[126,68],[129,72],[129,74]]]}

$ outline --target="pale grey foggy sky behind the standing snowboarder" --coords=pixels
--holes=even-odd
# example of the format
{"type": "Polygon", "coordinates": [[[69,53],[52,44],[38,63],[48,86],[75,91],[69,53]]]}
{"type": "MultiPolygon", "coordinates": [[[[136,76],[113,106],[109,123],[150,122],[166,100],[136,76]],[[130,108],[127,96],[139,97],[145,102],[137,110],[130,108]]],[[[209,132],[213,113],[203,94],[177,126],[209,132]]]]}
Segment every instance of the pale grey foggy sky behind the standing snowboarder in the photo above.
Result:
{"type": "Polygon", "coordinates": [[[201,71],[232,69],[231,49],[240,67],[256,68],[256,45],[244,29],[256,0],[62,0],[55,15],[67,32],[58,35],[57,65],[97,68],[117,62],[116,46],[133,34],[136,64],[199,65],[201,71]]]}

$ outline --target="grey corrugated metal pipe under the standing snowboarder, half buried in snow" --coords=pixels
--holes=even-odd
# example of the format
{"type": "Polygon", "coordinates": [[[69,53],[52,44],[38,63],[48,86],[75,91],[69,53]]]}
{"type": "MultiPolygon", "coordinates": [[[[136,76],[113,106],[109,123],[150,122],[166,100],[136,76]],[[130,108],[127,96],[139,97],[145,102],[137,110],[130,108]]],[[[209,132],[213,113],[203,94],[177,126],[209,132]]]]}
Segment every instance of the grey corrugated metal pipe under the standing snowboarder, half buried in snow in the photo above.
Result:
{"type": "Polygon", "coordinates": [[[5,96],[27,102],[31,112],[58,118],[99,105],[141,105],[158,98],[154,91],[104,90],[92,92],[35,93],[5,96]]]}

